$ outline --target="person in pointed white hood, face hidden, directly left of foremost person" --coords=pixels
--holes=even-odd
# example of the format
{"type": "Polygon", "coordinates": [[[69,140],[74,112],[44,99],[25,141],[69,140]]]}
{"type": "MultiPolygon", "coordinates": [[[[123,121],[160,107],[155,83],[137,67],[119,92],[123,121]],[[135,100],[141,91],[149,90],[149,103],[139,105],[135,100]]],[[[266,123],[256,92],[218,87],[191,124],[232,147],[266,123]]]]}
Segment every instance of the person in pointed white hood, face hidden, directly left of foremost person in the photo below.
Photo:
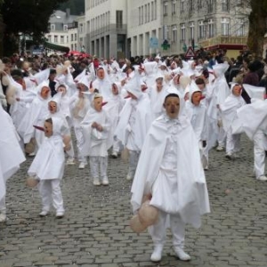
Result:
{"type": "Polygon", "coordinates": [[[152,122],[152,111],[150,99],[145,93],[142,93],[138,76],[135,75],[125,85],[125,90],[129,93],[130,98],[125,101],[125,106],[119,114],[114,136],[129,150],[130,162],[126,179],[132,180],[142,150],[142,143],[152,122]]]}

